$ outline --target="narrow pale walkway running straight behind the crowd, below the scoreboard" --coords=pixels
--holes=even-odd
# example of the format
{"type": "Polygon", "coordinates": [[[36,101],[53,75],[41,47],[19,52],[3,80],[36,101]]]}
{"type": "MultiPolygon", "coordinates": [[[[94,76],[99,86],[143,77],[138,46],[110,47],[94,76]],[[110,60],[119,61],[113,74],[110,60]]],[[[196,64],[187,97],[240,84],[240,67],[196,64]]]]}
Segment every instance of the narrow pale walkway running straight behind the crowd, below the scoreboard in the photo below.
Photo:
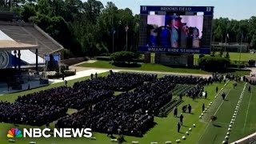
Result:
{"type": "MultiPolygon", "coordinates": [[[[92,67],[81,67],[81,66],[70,66],[71,70],[106,70],[109,71],[111,69],[103,69],[103,68],[92,68],[92,67]]],[[[125,70],[125,69],[113,69],[114,71],[122,71],[122,72],[134,72],[134,73],[146,73],[146,74],[172,74],[172,75],[183,75],[183,76],[196,76],[196,77],[203,77],[209,78],[211,74],[188,74],[188,73],[173,73],[173,72],[160,72],[160,71],[148,71],[148,70],[125,70]]]]}

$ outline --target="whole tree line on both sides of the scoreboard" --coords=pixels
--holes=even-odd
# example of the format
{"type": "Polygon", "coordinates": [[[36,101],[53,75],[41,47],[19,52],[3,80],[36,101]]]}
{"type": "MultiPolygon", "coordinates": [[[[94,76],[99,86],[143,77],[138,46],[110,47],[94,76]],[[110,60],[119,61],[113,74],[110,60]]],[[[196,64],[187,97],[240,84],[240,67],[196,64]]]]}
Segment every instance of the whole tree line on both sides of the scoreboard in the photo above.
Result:
{"type": "MultiPolygon", "coordinates": [[[[97,0],[0,0],[0,8],[36,23],[66,48],[66,56],[137,50],[139,15],[129,8],[118,9],[113,2],[103,6],[97,0]]],[[[225,42],[227,32],[227,42],[240,42],[243,35],[242,42],[256,46],[256,17],[217,18],[213,29],[214,42],[225,42]]]]}

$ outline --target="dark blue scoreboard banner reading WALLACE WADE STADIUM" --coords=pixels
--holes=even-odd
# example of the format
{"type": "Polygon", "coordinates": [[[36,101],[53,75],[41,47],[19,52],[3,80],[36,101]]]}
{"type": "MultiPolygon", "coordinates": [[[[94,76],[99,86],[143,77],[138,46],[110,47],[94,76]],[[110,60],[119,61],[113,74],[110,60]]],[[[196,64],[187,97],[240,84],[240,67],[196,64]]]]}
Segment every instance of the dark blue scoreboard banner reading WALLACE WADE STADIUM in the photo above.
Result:
{"type": "Polygon", "coordinates": [[[170,46],[138,46],[138,51],[154,53],[173,53],[173,54],[210,54],[210,48],[172,48],[170,46]]]}

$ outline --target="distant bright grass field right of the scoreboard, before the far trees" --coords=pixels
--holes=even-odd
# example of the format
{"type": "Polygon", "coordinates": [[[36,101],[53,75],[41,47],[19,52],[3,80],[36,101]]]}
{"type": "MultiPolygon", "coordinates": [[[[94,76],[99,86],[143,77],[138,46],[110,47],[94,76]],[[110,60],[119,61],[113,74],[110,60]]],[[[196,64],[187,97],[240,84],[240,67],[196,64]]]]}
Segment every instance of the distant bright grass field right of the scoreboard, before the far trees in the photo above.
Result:
{"type": "MultiPolygon", "coordinates": [[[[216,55],[219,53],[216,52],[216,55]]],[[[229,53],[230,54],[230,60],[231,61],[239,61],[240,53],[229,53]]],[[[199,54],[194,54],[194,58],[198,59],[199,54]]],[[[248,62],[249,60],[256,60],[256,54],[251,53],[241,53],[241,62],[248,62]]]]}

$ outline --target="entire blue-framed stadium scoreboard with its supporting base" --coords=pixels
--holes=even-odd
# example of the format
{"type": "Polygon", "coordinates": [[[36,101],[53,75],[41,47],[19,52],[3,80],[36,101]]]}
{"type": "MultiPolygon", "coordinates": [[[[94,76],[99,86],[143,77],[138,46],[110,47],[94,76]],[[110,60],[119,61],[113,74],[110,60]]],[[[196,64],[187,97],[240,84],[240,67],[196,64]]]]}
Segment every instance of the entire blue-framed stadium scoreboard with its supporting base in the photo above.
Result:
{"type": "MultiPolygon", "coordinates": [[[[140,9],[138,51],[155,53],[155,62],[190,65],[193,54],[210,54],[214,6],[141,6],[140,9]]],[[[148,57],[145,55],[150,62],[148,57]]]]}

